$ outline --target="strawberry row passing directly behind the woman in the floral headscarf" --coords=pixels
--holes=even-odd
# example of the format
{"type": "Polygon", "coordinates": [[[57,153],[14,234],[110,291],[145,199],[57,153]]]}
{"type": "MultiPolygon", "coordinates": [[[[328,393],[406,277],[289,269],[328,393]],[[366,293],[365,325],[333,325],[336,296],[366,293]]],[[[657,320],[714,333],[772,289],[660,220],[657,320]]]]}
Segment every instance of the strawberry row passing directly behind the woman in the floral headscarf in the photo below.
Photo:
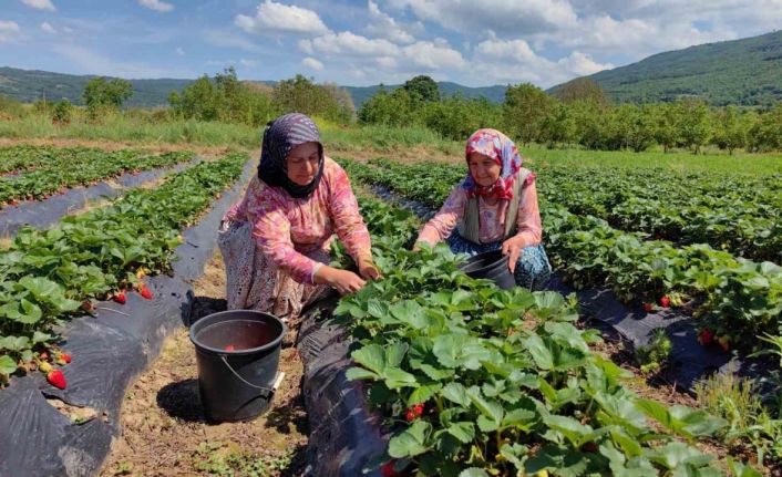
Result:
{"type": "MultiPolygon", "coordinates": [[[[430,164],[358,163],[351,177],[383,185],[395,193],[439,207],[463,177],[453,167],[430,164]]],[[[700,317],[701,329],[718,336],[723,348],[754,351],[766,345],[742,335],[782,334],[782,268],[753,262],[708,245],[676,247],[646,240],[644,234],[614,229],[605,220],[578,216],[542,200],[544,240],[555,266],[576,288],[611,288],[625,302],[681,305],[687,299],[700,317]]]]}

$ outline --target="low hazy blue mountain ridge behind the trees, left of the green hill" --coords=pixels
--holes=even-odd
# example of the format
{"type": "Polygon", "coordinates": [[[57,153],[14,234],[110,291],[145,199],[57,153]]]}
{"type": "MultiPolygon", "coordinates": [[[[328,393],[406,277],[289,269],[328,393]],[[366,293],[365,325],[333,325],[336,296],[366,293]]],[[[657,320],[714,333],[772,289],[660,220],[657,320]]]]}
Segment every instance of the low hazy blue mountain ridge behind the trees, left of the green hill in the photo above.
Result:
{"type": "MultiPolygon", "coordinates": [[[[51,73],[38,70],[19,70],[16,68],[0,68],[0,94],[13,97],[24,103],[45,97],[48,101],[68,98],[74,104],[83,104],[82,93],[84,85],[95,75],[74,75],[51,73]]],[[[133,96],[127,101],[128,106],[160,106],[168,104],[168,94],[176,90],[182,92],[194,80],[130,80],[133,85],[133,96]]],[[[258,81],[274,85],[274,81],[258,81]]],[[[490,101],[502,102],[505,97],[505,86],[469,87],[456,83],[438,83],[440,92],[444,95],[461,93],[465,97],[485,96],[490,101]]],[[[401,84],[388,85],[385,91],[393,91],[401,84]]],[[[377,86],[342,86],[353,97],[356,107],[372,97],[380,89],[377,86]]]]}

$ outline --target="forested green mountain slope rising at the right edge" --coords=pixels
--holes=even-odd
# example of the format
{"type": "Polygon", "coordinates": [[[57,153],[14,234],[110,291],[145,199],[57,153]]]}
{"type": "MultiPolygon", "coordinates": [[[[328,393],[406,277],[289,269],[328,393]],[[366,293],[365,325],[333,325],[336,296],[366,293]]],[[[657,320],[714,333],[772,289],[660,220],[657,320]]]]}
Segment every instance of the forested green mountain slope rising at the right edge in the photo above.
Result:
{"type": "Polygon", "coordinates": [[[765,106],[782,100],[782,31],[658,53],[587,77],[618,103],[697,96],[718,106],[765,106]]]}

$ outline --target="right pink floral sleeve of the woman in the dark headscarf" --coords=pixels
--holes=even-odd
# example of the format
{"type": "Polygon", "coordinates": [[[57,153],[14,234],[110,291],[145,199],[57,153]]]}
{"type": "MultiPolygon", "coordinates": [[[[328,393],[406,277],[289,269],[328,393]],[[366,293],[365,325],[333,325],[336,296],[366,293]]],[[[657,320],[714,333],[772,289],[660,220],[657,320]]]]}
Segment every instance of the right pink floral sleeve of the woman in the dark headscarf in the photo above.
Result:
{"type": "Polygon", "coordinates": [[[359,212],[359,203],[350,187],[350,179],[344,169],[335,164],[333,176],[329,179],[331,194],[329,209],[337,237],[357,262],[359,259],[372,259],[372,245],[367,225],[359,212]]]}

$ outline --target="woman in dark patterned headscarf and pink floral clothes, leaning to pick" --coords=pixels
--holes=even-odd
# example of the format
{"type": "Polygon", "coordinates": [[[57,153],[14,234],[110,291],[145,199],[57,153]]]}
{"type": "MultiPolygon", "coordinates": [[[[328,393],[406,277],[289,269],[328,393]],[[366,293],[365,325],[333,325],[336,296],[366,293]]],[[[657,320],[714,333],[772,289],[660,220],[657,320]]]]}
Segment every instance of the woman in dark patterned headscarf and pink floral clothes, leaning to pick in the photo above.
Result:
{"type": "Polygon", "coordinates": [[[229,310],[290,319],[331,289],[351,293],[380,276],[348,176],[303,114],[267,126],[258,174],[224,217],[218,242],[229,310]],[[335,234],[359,274],[328,265],[335,234]]]}

